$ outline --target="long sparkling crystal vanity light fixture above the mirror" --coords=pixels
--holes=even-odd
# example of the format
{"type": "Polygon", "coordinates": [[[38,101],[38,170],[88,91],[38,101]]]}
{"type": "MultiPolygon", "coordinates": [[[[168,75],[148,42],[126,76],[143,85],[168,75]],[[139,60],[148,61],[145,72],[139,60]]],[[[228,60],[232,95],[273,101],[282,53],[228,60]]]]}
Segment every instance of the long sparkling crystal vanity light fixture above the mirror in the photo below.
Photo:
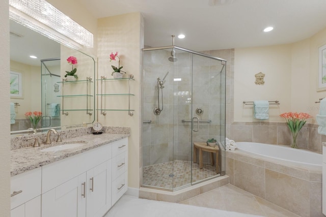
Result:
{"type": "Polygon", "coordinates": [[[9,0],[9,18],[73,49],[94,46],[92,33],[45,0],[9,0]]]}

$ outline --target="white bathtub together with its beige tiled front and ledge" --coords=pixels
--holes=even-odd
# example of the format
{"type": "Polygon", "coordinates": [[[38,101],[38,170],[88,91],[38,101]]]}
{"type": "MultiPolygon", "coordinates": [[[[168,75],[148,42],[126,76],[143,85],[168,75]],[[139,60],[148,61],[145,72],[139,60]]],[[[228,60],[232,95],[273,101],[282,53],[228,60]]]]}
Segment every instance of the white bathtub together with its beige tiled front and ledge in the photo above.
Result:
{"type": "Polygon", "coordinates": [[[254,142],[226,151],[230,184],[302,217],[323,216],[322,154],[254,142]]]}

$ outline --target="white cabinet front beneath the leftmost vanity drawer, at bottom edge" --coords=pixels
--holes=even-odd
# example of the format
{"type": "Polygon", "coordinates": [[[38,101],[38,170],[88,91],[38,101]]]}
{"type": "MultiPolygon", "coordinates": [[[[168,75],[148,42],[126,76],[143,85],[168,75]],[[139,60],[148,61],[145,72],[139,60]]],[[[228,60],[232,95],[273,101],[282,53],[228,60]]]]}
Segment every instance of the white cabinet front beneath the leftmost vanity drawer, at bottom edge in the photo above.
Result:
{"type": "Polygon", "coordinates": [[[11,210],[11,217],[41,217],[41,196],[11,210]]]}

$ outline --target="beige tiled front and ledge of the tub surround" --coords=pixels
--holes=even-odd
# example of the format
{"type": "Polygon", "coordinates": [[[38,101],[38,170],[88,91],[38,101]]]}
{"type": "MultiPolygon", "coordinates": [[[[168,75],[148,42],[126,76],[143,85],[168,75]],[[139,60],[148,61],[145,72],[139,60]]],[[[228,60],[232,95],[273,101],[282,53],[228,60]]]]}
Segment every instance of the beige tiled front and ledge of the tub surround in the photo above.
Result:
{"type": "Polygon", "coordinates": [[[298,166],[242,150],[226,152],[230,184],[300,216],[319,217],[321,167],[298,166]]]}

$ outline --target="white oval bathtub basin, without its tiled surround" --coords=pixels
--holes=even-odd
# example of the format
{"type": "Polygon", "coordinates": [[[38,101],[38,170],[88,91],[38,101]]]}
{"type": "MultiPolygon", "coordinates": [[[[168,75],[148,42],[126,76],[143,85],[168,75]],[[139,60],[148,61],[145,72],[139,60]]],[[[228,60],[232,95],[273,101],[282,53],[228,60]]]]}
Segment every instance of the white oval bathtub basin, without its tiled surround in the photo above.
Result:
{"type": "Polygon", "coordinates": [[[239,150],[260,156],[293,162],[300,165],[322,167],[322,154],[281,145],[270,145],[256,142],[237,142],[239,150]]]}

